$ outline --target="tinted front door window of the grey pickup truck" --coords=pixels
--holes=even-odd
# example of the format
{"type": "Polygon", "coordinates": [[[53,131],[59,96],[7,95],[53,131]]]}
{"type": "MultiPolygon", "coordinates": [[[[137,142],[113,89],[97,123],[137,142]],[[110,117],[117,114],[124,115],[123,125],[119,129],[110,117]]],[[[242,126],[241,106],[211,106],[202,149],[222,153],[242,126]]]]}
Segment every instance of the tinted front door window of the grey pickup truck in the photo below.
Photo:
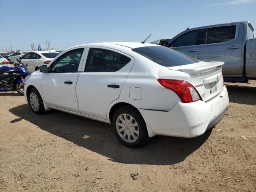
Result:
{"type": "Polygon", "coordinates": [[[170,46],[182,47],[191,45],[205,44],[206,29],[194,30],[186,32],[185,34],[176,38],[170,46]]]}

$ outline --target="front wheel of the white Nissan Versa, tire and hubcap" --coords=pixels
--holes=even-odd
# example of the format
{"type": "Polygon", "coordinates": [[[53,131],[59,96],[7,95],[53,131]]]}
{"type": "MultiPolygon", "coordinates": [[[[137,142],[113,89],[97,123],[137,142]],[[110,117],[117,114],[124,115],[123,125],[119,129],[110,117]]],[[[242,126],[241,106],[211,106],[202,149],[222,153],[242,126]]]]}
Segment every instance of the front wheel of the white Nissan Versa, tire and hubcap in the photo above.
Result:
{"type": "Polygon", "coordinates": [[[28,103],[30,108],[35,114],[43,114],[45,113],[44,102],[40,93],[36,88],[32,88],[28,92],[28,103]]]}

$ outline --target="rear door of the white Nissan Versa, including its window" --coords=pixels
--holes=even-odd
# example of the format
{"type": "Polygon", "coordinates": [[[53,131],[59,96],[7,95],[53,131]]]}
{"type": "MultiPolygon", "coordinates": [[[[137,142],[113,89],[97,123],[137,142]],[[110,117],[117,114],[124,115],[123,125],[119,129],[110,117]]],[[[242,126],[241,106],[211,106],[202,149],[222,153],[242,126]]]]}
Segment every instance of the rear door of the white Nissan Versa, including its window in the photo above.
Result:
{"type": "Polygon", "coordinates": [[[108,106],[119,98],[133,63],[134,58],[117,50],[90,47],[76,84],[80,112],[106,119],[108,106]]]}

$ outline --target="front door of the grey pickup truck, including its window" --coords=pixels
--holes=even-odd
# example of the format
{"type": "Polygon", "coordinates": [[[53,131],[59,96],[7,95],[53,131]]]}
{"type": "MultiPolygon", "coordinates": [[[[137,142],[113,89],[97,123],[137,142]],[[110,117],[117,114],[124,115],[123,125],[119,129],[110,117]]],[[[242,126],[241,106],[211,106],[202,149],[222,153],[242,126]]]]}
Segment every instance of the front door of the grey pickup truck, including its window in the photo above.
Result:
{"type": "Polygon", "coordinates": [[[199,46],[205,43],[206,29],[192,30],[185,32],[170,42],[169,46],[192,58],[198,59],[199,46]]]}

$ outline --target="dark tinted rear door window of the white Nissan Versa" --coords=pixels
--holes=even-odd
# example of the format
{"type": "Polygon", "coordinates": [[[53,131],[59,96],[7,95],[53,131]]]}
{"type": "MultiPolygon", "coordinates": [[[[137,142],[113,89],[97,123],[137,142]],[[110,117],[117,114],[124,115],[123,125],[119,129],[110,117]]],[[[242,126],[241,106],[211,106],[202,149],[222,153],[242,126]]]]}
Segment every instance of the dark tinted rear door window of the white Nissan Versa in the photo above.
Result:
{"type": "Polygon", "coordinates": [[[130,61],[129,57],[114,51],[90,48],[85,72],[116,72],[130,61]]]}

